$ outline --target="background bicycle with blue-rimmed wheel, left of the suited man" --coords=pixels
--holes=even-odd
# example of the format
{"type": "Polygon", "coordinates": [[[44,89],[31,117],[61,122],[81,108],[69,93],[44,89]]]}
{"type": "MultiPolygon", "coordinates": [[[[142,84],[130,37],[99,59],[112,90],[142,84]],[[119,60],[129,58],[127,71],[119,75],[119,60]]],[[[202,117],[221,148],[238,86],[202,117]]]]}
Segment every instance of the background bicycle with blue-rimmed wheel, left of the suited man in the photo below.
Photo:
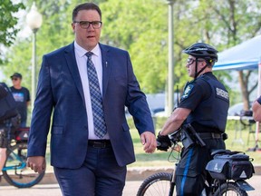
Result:
{"type": "Polygon", "coordinates": [[[45,171],[36,173],[26,166],[29,128],[18,128],[14,133],[11,132],[11,125],[6,128],[9,142],[2,170],[3,177],[14,187],[30,188],[42,181],[45,171]]]}

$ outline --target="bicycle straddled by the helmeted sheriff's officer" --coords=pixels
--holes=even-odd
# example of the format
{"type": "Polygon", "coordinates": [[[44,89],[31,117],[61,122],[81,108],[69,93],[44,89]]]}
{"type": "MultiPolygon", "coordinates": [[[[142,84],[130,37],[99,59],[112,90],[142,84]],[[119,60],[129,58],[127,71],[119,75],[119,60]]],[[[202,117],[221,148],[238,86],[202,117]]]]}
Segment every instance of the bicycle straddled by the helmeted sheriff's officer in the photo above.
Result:
{"type": "MultiPolygon", "coordinates": [[[[180,160],[180,152],[181,146],[178,144],[179,138],[176,136],[169,135],[170,141],[172,142],[171,152],[169,153],[169,157],[173,152],[177,152],[178,155],[174,155],[173,157],[176,159],[176,163],[174,164],[174,169],[171,173],[169,172],[158,172],[147,179],[145,179],[137,192],[137,196],[172,196],[176,195],[175,191],[175,169],[180,160]]],[[[158,144],[160,145],[160,143],[158,144]]],[[[221,154],[227,152],[229,150],[217,150],[216,152],[212,152],[211,155],[214,157],[216,154],[221,154]]],[[[169,159],[168,159],[169,160],[169,159]]],[[[219,195],[227,195],[227,196],[247,196],[247,191],[254,190],[252,186],[250,186],[247,181],[240,179],[236,181],[231,180],[218,180],[209,175],[209,178],[205,181],[205,188],[202,191],[202,196],[219,196],[219,195]]]]}

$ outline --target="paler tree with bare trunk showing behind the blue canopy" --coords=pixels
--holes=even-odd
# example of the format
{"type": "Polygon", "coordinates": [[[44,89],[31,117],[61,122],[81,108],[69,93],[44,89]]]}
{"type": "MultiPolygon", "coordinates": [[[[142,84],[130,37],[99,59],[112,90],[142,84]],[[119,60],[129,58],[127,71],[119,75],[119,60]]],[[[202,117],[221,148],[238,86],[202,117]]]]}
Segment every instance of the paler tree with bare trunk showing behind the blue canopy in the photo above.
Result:
{"type": "MultiPolygon", "coordinates": [[[[206,37],[208,37],[208,34],[215,34],[222,37],[222,40],[218,40],[220,48],[234,46],[261,32],[259,12],[261,4],[259,1],[221,0],[220,4],[216,4],[213,1],[204,0],[200,1],[200,3],[200,5],[208,7],[208,10],[206,10],[208,11],[209,19],[206,18],[208,22],[205,24],[211,24],[212,26],[210,29],[205,28],[207,30],[206,37]]],[[[238,71],[237,73],[244,109],[249,110],[249,96],[256,89],[257,79],[253,84],[249,82],[251,78],[253,81],[253,76],[256,75],[256,72],[245,70],[238,71]]]]}

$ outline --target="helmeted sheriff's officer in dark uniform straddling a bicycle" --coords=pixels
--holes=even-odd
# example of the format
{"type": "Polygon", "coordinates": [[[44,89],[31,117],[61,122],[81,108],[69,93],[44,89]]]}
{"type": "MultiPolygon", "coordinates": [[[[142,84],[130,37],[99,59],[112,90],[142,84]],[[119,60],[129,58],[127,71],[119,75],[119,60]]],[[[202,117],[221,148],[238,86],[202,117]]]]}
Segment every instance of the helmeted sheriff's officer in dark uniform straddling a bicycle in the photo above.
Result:
{"type": "Polygon", "coordinates": [[[177,195],[191,196],[200,195],[204,188],[208,175],[205,167],[211,160],[211,150],[226,149],[224,135],[229,96],[212,73],[218,61],[218,51],[213,46],[196,43],[183,53],[189,54],[186,67],[194,79],[186,84],[178,107],[163,125],[157,140],[161,143],[158,149],[167,151],[171,145],[168,134],[188,127],[186,125],[202,139],[203,144],[199,145],[197,137],[189,130],[181,136],[183,148],[175,173],[176,191],[177,195]]]}

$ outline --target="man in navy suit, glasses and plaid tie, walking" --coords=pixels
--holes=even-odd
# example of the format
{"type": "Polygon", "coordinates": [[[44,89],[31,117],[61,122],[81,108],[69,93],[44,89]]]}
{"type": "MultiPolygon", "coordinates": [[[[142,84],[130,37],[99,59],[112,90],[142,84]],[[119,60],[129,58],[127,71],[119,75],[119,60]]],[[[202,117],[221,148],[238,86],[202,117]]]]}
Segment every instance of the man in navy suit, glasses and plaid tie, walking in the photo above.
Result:
{"type": "Polygon", "coordinates": [[[156,139],[149,106],[128,52],[99,43],[100,8],[92,3],[77,5],[72,26],[73,44],[43,55],[27,165],[35,172],[43,171],[52,116],[51,164],[63,195],[120,196],[126,165],[135,162],[124,107],[133,116],[144,151],[151,153],[156,139]],[[88,52],[92,57],[87,57],[88,52]],[[100,90],[96,95],[102,95],[99,123],[105,135],[95,132],[96,105],[88,64],[94,65],[99,81],[95,88],[100,90]]]}

